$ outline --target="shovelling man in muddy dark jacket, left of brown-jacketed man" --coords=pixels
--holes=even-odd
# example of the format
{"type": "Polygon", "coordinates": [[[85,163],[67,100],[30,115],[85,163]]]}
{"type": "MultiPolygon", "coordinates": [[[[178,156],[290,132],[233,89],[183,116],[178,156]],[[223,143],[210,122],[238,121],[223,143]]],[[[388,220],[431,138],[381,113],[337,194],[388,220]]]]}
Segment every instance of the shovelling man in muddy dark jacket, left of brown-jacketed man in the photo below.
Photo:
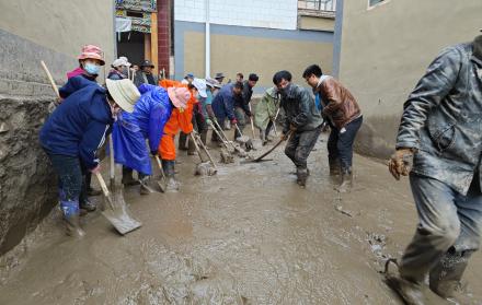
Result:
{"type": "Polygon", "coordinates": [[[291,73],[277,72],[273,83],[280,93],[280,107],[285,110],[282,137],[289,137],[285,154],[296,165],[298,185],[305,187],[309,175],[307,160],[320,136],[323,119],[308,90],[291,83],[291,73]]]}

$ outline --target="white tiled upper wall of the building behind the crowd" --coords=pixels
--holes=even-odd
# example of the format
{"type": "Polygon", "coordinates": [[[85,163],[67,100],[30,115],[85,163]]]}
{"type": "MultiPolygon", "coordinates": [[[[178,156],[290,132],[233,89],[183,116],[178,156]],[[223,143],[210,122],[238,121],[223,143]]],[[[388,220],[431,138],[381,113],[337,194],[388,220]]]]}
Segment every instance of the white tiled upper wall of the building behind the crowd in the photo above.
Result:
{"type": "MultiPolygon", "coordinates": [[[[210,22],[225,25],[296,30],[297,0],[209,0],[210,22]]],[[[205,22],[206,0],[175,0],[177,21],[205,22]]]]}

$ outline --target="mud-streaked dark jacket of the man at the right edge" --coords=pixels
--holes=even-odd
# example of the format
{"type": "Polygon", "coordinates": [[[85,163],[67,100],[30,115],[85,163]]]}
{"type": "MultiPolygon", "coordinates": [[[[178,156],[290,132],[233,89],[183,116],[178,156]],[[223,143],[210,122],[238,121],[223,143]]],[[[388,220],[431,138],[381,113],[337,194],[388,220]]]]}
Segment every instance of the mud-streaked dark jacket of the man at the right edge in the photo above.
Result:
{"type": "Polygon", "coordinates": [[[466,195],[482,180],[482,36],[444,49],[403,108],[397,148],[417,150],[413,173],[466,195]],[[478,44],[479,43],[479,44],[478,44]]]}

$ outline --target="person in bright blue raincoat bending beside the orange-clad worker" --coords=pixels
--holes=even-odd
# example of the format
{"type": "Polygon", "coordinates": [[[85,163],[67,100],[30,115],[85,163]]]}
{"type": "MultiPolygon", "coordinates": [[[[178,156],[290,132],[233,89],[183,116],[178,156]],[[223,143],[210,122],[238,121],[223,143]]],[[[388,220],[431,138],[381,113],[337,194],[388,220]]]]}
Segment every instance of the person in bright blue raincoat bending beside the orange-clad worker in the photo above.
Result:
{"type": "Polygon", "coordinates": [[[147,195],[147,179],[152,175],[149,152],[158,154],[164,125],[171,117],[172,105],[168,92],[150,84],[141,84],[142,94],[131,114],[122,112],[114,124],[114,157],[123,164],[123,184],[134,185],[133,169],[138,172],[140,193],[147,195]],[[149,140],[149,148],[146,145],[149,140]]]}

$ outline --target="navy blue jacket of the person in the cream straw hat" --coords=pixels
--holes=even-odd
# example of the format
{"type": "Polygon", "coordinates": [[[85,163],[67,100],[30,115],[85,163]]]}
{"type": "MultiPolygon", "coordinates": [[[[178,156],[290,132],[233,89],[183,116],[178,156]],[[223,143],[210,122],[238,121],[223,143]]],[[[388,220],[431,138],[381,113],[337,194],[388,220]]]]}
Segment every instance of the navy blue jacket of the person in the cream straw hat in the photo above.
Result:
{"type": "Polygon", "coordinates": [[[106,90],[82,77],[74,77],[80,89],[61,103],[41,129],[41,144],[51,154],[80,157],[92,169],[99,164],[96,150],[113,124],[106,90]]]}

